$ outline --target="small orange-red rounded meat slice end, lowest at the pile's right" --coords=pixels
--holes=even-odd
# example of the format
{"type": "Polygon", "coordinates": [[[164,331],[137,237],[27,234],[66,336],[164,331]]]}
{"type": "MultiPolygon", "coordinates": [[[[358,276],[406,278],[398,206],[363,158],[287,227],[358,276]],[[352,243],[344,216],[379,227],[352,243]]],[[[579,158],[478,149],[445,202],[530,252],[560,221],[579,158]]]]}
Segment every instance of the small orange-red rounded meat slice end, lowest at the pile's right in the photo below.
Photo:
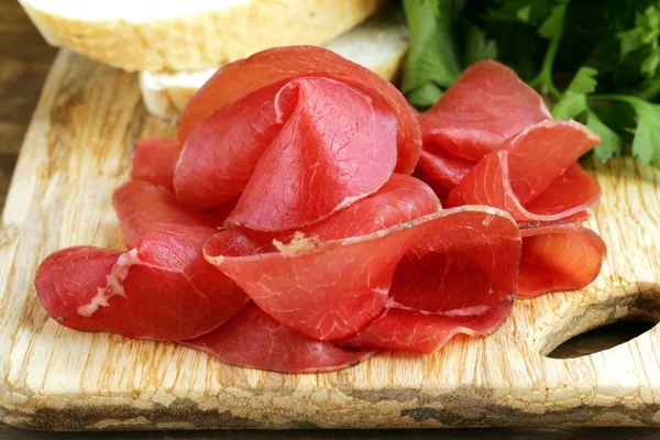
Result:
{"type": "Polygon", "coordinates": [[[518,276],[518,298],[580,289],[601,272],[605,243],[579,224],[526,228],[518,276]]]}

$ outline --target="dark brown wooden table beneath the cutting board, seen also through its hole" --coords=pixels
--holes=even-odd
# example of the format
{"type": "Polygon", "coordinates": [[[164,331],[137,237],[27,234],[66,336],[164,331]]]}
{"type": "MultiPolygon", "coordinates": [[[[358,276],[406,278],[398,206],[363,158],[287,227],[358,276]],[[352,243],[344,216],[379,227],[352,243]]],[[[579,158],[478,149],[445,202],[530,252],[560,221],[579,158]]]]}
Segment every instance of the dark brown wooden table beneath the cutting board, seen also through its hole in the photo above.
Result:
{"type": "MultiPolygon", "coordinates": [[[[15,0],[0,0],[0,209],[4,206],[11,174],[23,136],[40,96],[41,87],[57,50],[36,32],[15,0]]],[[[648,323],[627,322],[582,334],[553,352],[572,358],[604,350],[649,329],[648,323]]],[[[57,433],[14,429],[0,424],[0,440],[10,439],[660,439],[652,428],[497,428],[411,431],[161,431],[57,433]]]]}

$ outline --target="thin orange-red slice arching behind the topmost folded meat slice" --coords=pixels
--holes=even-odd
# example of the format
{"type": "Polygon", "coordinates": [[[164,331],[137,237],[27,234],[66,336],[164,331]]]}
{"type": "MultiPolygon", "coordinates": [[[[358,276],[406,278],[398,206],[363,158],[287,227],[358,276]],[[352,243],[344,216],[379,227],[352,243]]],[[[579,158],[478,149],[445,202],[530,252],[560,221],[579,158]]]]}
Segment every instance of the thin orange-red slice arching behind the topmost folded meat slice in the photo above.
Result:
{"type": "Polygon", "coordinates": [[[184,143],[218,109],[265,87],[300,77],[326,77],[351,85],[391,107],[397,120],[396,172],[410,174],[421,151],[417,114],[404,96],[377,74],[318,46],[275,47],[220,68],[193,96],[179,124],[184,143]]]}

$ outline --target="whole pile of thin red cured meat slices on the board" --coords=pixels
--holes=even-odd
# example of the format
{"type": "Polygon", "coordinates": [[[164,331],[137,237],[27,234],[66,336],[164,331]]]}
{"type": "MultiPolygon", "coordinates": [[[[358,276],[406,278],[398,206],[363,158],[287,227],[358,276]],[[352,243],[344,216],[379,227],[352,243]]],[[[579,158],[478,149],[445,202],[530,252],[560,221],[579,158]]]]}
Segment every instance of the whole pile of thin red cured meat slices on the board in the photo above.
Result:
{"type": "Polygon", "coordinates": [[[265,51],[195,95],[177,140],[138,144],[113,199],[128,251],[55,252],[36,290],[69,328],[235,365],[430,353],[497,330],[516,294],[595,278],[605,248],[579,222],[600,188],[576,161],[597,143],[495,62],[418,118],[332,52],[265,51]]]}

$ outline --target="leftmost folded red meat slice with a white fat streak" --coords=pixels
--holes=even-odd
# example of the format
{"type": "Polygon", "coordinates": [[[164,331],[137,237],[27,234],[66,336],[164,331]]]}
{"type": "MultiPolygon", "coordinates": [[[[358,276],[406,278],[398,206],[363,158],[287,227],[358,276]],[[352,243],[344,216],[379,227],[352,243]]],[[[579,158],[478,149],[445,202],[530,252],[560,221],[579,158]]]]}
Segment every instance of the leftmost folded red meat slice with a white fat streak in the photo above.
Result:
{"type": "Polygon", "coordinates": [[[245,305],[241,288],[202,256],[216,229],[185,216],[174,196],[131,182],[114,205],[133,249],[78,246],[48,256],[35,284],[51,317],[74,329],[178,341],[207,333],[245,305]]]}

